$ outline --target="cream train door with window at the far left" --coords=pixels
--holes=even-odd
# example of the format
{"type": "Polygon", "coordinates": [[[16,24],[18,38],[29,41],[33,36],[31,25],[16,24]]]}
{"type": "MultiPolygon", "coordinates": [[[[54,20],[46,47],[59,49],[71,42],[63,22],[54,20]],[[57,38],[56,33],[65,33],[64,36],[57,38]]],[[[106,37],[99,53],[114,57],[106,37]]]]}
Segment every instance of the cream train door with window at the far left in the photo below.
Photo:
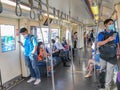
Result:
{"type": "Polygon", "coordinates": [[[2,82],[21,76],[18,20],[0,17],[0,70],[2,82]]]}

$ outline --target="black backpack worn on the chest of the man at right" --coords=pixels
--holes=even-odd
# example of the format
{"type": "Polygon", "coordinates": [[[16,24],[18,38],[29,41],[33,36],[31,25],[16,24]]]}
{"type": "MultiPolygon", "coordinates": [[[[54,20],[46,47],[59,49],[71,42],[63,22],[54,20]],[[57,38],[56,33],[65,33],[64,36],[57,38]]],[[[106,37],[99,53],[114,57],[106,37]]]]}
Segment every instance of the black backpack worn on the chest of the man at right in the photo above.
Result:
{"type": "MultiPolygon", "coordinates": [[[[116,32],[111,32],[110,34],[106,34],[104,32],[101,32],[104,35],[104,39],[106,40],[110,36],[112,36],[116,32]]],[[[116,44],[113,41],[110,41],[106,43],[105,45],[102,45],[99,47],[100,57],[104,60],[112,59],[116,56],[116,44]]]]}

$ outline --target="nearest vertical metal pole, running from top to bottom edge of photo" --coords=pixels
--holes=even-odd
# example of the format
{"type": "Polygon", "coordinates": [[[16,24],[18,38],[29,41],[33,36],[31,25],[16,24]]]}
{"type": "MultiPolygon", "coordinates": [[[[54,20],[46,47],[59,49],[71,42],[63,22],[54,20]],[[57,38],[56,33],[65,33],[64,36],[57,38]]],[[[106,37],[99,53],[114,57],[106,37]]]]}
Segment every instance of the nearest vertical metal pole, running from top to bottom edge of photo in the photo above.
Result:
{"type": "MultiPolygon", "coordinates": [[[[50,42],[50,47],[51,47],[51,27],[50,27],[50,20],[49,20],[49,0],[46,0],[47,3],[47,15],[48,15],[48,28],[49,28],[49,42],[50,42]]],[[[52,49],[52,47],[51,47],[52,49]]],[[[52,50],[51,50],[52,51],[52,50]]],[[[53,71],[53,58],[52,58],[52,54],[51,54],[51,73],[52,73],[52,87],[53,90],[55,90],[55,81],[54,81],[54,71],[53,71]]]]}

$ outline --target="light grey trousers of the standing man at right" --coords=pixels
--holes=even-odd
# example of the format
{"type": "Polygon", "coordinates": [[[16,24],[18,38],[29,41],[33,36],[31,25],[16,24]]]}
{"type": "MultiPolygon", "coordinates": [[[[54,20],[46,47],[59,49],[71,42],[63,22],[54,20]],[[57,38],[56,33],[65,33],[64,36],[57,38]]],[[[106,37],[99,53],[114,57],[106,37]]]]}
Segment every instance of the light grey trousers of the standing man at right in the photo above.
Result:
{"type": "Polygon", "coordinates": [[[114,70],[115,65],[101,58],[100,58],[100,65],[101,65],[101,70],[106,71],[105,90],[107,90],[107,88],[111,87],[111,82],[113,78],[113,70],[114,70]]]}

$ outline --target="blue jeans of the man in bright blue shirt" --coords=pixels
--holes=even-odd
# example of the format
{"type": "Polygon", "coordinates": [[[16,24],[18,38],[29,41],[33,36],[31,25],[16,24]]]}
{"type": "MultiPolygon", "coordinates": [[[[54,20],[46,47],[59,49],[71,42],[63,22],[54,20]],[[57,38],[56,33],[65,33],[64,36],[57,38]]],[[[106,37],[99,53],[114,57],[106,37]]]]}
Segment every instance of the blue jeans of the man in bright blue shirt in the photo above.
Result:
{"type": "Polygon", "coordinates": [[[26,65],[29,68],[31,77],[40,78],[40,71],[38,68],[37,55],[25,56],[26,65]]]}

